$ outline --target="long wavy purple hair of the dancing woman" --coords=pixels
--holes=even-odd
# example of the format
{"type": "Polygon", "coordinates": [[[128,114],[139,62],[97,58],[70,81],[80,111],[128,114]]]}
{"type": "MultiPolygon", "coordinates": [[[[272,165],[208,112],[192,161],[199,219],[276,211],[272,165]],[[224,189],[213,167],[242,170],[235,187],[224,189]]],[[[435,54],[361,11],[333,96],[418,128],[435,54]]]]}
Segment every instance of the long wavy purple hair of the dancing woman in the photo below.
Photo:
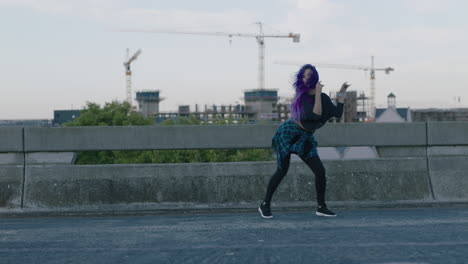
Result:
{"type": "Polygon", "coordinates": [[[319,75],[317,70],[311,64],[306,64],[301,67],[301,69],[297,72],[296,78],[293,84],[294,89],[296,90],[296,94],[291,102],[291,119],[293,120],[301,120],[304,116],[304,107],[302,105],[302,99],[305,97],[307,102],[311,102],[310,97],[306,96],[310,90],[315,89],[315,85],[319,81],[319,75]],[[312,70],[312,74],[310,78],[307,79],[307,82],[304,84],[302,78],[304,77],[304,72],[307,69],[312,70]]]}

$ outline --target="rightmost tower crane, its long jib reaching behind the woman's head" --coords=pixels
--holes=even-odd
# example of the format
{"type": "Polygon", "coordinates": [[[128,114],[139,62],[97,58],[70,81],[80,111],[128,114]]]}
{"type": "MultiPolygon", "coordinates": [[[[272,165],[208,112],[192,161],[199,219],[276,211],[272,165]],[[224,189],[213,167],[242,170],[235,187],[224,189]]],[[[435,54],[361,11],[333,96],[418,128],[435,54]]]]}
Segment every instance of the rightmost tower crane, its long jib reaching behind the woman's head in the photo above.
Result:
{"type": "MultiPolygon", "coordinates": [[[[292,61],[276,61],[276,64],[282,65],[304,65],[306,63],[292,62],[292,61]]],[[[395,69],[392,67],[376,68],[374,65],[374,56],[371,56],[370,66],[357,66],[357,65],[343,65],[343,64],[329,64],[329,63],[311,63],[314,66],[322,68],[335,68],[335,69],[351,69],[351,70],[363,70],[370,71],[370,111],[369,118],[373,120],[375,118],[375,71],[384,71],[385,74],[389,74],[395,69]]]]}

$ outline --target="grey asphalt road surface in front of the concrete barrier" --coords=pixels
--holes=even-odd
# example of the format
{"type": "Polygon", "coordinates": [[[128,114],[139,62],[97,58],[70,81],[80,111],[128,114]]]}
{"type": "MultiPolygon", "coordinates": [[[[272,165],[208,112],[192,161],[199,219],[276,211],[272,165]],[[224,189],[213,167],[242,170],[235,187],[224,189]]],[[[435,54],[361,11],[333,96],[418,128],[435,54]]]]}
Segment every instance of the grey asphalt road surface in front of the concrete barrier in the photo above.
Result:
{"type": "Polygon", "coordinates": [[[0,219],[0,263],[468,263],[468,208],[0,219]]]}

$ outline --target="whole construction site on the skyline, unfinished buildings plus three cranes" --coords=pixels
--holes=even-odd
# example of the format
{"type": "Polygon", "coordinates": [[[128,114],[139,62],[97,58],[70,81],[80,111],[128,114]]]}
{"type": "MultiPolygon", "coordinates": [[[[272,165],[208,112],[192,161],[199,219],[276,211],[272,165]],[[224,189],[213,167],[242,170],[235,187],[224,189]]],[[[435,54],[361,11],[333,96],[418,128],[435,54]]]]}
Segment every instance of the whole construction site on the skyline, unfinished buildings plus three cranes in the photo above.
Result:
{"type": "MultiPolygon", "coordinates": [[[[232,37],[250,37],[255,38],[258,44],[258,84],[257,88],[245,90],[243,93],[243,104],[235,103],[229,105],[212,104],[198,105],[179,105],[178,109],[168,112],[159,111],[159,104],[164,98],[160,97],[161,90],[137,91],[136,102],[138,111],[145,117],[153,117],[156,123],[167,119],[176,120],[178,118],[195,118],[201,122],[210,123],[215,119],[231,119],[234,122],[243,120],[249,123],[255,122],[279,122],[289,118],[291,98],[280,98],[278,88],[265,87],[265,39],[266,38],[289,38],[293,43],[300,41],[300,34],[273,34],[268,35],[263,32],[262,23],[258,25],[258,33],[223,33],[223,32],[150,32],[150,33],[171,33],[171,34],[190,34],[190,35],[211,35],[232,37]]],[[[132,31],[138,32],[138,31],[132,31]]],[[[126,100],[132,104],[132,71],[131,64],[142,53],[137,50],[130,56],[127,49],[127,58],[124,61],[126,76],[126,100]]],[[[276,62],[282,65],[304,65],[310,62],[276,62]]],[[[369,66],[359,65],[341,65],[341,64],[320,64],[313,63],[317,67],[335,68],[347,70],[368,71],[370,73],[370,96],[364,92],[348,91],[345,99],[344,115],[341,119],[331,120],[331,122],[372,122],[375,119],[375,72],[384,71],[389,74],[394,69],[392,67],[378,68],[374,65],[374,56],[371,56],[369,66]]],[[[329,94],[332,99],[336,94],[329,94]]]]}

